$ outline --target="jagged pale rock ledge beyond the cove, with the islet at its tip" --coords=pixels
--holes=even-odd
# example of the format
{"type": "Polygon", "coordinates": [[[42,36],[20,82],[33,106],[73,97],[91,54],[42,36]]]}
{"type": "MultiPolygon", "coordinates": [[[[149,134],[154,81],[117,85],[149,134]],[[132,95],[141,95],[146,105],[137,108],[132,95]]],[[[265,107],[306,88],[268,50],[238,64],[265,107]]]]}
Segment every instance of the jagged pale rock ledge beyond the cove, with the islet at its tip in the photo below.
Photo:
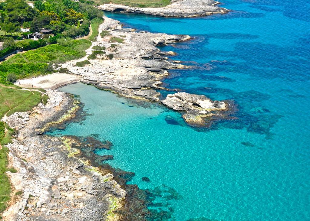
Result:
{"type": "Polygon", "coordinates": [[[226,103],[211,101],[196,94],[176,93],[160,101],[161,94],[156,89],[165,89],[161,87],[161,80],[168,76],[167,70],[187,66],[169,61],[164,55],[175,53],[162,52],[156,46],[188,41],[190,37],[134,31],[122,28],[118,21],[104,17],[104,23],[99,27],[99,33],[103,32],[104,35],[98,36],[91,48],[86,50],[87,54],[92,54],[93,48],[102,48],[101,55],[89,59],[91,64],[84,67],[75,64],[86,58],[62,64],[62,67],[71,74],[82,76],[81,81],[85,84],[129,98],[160,102],[182,111],[188,124],[203,125],[203,118],[212,116],[213,111],[227,110],[226,103]],[[113,41],[116,38],[122,39],[122,43],[113,41]],[[108,59],[108,54],[113,54],[113,59],[108,59]]]}

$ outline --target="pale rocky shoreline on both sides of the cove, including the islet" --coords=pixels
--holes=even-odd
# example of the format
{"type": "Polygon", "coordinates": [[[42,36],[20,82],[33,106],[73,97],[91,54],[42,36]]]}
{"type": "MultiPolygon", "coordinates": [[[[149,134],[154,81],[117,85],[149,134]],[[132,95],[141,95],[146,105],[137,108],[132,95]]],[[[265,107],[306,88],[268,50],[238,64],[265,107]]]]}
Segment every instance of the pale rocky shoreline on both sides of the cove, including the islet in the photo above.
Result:
{"type": "MultiPolygon", "coordinates": [[[[58,64],[69,73],[61,83],[55,81],[56,74],[52,76],[54,80],[34,78],[24,83],[34,88],[45,84],[55,89],[81,80],[128,98],[162,103],[181,111],[184,120],[192,125],[204,126],[204,119],[217,115],[225,117],[222,113],[228,110],[228,103],[212,101],[203,95],[178,92],[160,100],[161,94],[156,89],[165,89],[161,87],[161,80],[168,76],[167,70],[187,67],[170,62],[164,55],[174,52],[162,52],[156,46],[188,41],[188,35],[135,32],[107,17],[99,33],[101,35],[86,50],[88,56],[101,51],[95,59],[89,59],[90,64],[76,65],[86,58],[58,64]]],[[[64,74],[58,75],[64,78],[64,74]]],[[[78,137],[44,135],[48,128],[63,125],[81,110],[71,95],[51,89],[47,90],[50,99],[46,105],[40,103],[33,111],[2,119],[18,131],[13,143],[7,145],[9,167],[17,172],[7,172],[13,191],[11,206],[3,213],[4,219],[124,220],[129,217],[130,220],[145,220],[145,217],[156,217],[158,214],[147,208],[153,205],[154,193],[141,190],[137,185],[127,185],[134,173],[103,163],[113,156],[94,155],[94,148],[108,148],[109,143],[100,144],[90,138],[85,143],[85,139],[78,137]],[[15,195],[17,192],[20,194],[15,195]]]]}

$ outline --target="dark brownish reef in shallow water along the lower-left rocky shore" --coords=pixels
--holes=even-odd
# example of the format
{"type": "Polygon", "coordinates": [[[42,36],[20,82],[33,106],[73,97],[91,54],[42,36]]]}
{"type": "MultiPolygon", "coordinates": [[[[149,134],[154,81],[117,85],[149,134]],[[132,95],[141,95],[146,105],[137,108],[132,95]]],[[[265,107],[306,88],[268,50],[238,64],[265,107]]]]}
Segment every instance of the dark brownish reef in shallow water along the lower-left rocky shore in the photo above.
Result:
{"type": "MultiPolygon", "coordinates": [[[[80,153],[75,155],[76,157],[98,167],[103,174],[113,174],[113,179],[126,191],[123,206],[115,211],[121,218],[120,220],[170,220],[173,217],[174,209],[170,206],[169,201],[181,198],[174,188],[162,184],[154,189],[140,189],[136,184],[127,184],[135,176],[135,173],[113,168],[108,163],[104,163],[105,160],[112,159],[112,155],[95,154],[98,149],[109,150],[112,146],[111,142],[102,142],[92,136],[64,136],[64,138],[71,140],[71,147],[80,150],[80,153]]],[[[150,181],[147,177],[142,179],[145,182],[150,181]]]]}

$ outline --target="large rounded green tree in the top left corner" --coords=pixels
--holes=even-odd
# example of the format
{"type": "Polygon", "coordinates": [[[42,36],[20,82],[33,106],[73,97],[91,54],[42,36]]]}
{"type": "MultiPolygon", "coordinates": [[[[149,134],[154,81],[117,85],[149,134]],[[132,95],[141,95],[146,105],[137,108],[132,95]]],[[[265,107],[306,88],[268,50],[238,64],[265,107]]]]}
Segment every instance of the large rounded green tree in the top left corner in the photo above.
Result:
{"type": "Polygon", "coordinates": [[[24,21],[31,21],[35,11],[24,0],[7,0],[7,19],[10,22],[19,22],[23,26],[24,21]]]}

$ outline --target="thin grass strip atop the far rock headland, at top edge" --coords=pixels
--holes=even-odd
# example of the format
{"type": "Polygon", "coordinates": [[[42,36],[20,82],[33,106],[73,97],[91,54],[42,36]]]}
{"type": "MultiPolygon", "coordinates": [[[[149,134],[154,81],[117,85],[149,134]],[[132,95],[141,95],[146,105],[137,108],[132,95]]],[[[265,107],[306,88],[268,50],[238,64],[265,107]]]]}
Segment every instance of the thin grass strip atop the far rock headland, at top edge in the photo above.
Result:
{"type": "Polygon", "coordinates": [[[95,0],[95,4],[109,4],[112,2],[113,4],[118,5],[126,5],[132,7],[151,7],[151,8],[158,8],[158,7],[165,7],[170,4],[170,0],[95,0]]]}

